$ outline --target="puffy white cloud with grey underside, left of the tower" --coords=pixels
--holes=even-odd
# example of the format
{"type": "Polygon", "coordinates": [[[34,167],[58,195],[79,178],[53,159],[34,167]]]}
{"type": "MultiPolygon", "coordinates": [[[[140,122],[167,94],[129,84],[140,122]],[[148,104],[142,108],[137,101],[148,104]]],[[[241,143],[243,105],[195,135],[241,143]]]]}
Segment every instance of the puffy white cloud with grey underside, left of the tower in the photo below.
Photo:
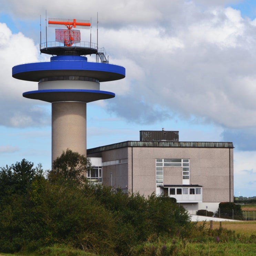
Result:
{"type": "Polygon", "coordinates": [[[0,125],[11,127],[49,125],[50,116],[42,111],[42,107],[35,107],[35,101],[22,97],[25,91],[37,90],[37,83],[12,78],[12,66],[38,61],[38,47],[32,39],[22,33],[13,34],[4,23],[0,23],[0,31],[0,61],[4,63],[0,69],[0,125]]]}

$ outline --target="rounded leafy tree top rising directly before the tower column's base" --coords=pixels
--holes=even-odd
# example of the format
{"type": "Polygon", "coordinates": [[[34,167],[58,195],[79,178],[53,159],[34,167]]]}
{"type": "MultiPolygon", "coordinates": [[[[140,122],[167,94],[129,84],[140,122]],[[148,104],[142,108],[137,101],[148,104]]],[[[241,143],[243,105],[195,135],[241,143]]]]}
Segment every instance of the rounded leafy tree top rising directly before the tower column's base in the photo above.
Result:
{"type": "Polygon", "coordinates": [[[76,181],[83,182],[87,170],[91,168],[91,161],[78,152],[70,149],[63,151],[52,164],[52,170],[48,171],[49,181],[76,181]]]}

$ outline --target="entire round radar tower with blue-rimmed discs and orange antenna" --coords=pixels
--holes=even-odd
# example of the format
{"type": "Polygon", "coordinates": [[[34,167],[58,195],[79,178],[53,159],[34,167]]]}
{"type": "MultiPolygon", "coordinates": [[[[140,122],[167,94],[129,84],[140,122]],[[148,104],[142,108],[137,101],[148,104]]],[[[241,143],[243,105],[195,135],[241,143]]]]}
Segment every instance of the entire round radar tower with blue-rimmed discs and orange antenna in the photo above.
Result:
{"type": "Polygon", "coordinates": [[[80,41],[80,31],[89,21],[49,19],[55,29],[55,42],[40,44],[40,52],[50,54],[48,62],[26,63],[12,68],[13,78],[38,82],[38,90],[23,97],[52,104],[52,161],[66,149],[86,156],[86,103],[111,99],[113,92],[101,91],[100,82],[125,77],[125,68],[110,64],[104,48],[80,41]],[[96,55],[89,62],[86,55],[96,55]]]}

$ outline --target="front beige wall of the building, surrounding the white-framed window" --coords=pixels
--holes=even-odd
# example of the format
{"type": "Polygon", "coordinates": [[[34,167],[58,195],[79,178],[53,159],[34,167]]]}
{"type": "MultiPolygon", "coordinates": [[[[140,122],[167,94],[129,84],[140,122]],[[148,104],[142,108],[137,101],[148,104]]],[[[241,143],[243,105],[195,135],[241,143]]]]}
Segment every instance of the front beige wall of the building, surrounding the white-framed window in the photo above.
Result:
{"type": "MultiPolygon", "coordinates": [[[[229,149],[223,148],[133,148],[133,188],[143,194],[155,191],[155,159],[190,159],[190,183],[203,186],[203,202],[229,201],[229,149]]],[[[233,150],[231,149],[231,201],[233,201],[233,150]]],[[[164,168],[164,184],[178,183],[178,169],[164,168]],[[168,169],[168,172],[166,171],[168,169]],[[173,177],[171,172],[173,171],[173,177]],[[177,182],[177,183],[173,183],[177,182]]],[[[182,176],[182,171],[180,171],[182,176]]]]}

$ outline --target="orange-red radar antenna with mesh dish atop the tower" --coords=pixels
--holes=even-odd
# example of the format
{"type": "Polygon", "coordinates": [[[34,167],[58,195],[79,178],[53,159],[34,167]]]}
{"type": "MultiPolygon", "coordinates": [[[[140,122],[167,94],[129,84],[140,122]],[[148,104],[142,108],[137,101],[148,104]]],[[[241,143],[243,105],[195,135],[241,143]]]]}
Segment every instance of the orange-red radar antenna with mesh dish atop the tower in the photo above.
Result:
{"type": "Polygon", "coordinates": [[[90,29],[91,23],[89,20],[76,20],[76,19],[48,19],[48,26],[55,28],[67,28],[67,29],[55,29],[55,41],[64,43],[64,46],[72,46],[73,43],[80,43],[81,36],[80,29],[90,29]]]}

